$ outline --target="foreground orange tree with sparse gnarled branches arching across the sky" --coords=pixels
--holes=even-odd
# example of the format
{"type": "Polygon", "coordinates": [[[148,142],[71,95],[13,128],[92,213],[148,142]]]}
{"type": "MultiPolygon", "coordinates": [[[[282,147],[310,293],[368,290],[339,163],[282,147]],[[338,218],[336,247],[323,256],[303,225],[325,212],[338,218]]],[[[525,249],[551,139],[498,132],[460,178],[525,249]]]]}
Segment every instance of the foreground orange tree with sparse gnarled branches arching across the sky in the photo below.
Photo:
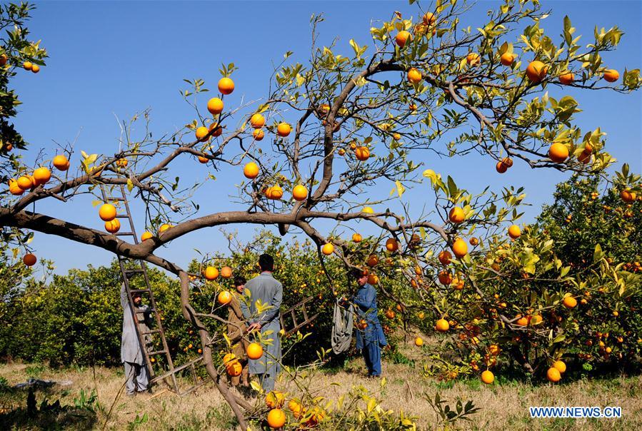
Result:
{"type": "MultiPolygon", "coordinates": [[[[442,181],[426,171],[438,199],[434,213],[417,215],[383,210],[386,198],[369,197],[368,191],[391,181],[401,196],[419,177],[416,153],[426,150],[445,156],[478,151],[498,173],[510,169],[513,161],[578,172],[601,171],[611,163],[601,130],[581,131],[574,122],[579,102],[571,96],[553,98],[546,89],[628,93],[639,88],[638,69],[620,72],[603,61],[623,32],[602,29],[581,46],[566,17],[561,37],[554,41],[557,36],[540,27],[547,14],[537,1],[510,0],[489,11],[473,31],[460,26],[467,10],[461,2],[438,1],[417,6],[414,17],[394,13],[371,29],[371,46],[351,40],[347,51],[336,44],[316,45],[321,19],[315,17],[311,57],[298,63],[286,55],[259,106],[226,106],[225,95],[234,91],[235,68],[230,64],[221,69],[219,95],[209,101],[199,98],[207,89],[205,81],[190,82],[193,88],[183,94],[193,103],[196,118],[176,133],[159,139],[146,133],[136,141],[127,136],[113,154],[78,155],[67,146],[57,154],[42,153],[35,166],[14,156],[11,178],[6,178],[9,187],[1,196],[0,225],[59,235],[178,275],[182,313],[199,335],[209,375],[246,427],[242,409],[251,406],[229,392],[214,367],[213,346],[224,339],[209,330],[190,302],[189,276],[201,274],[161,258],[156,254],[161,246],[219,225],[274,225],[283,235],[290,230],[308,235],[319,248],[331,243],[324,250],[346,265],[369,261],[375,267],[370,255],[385,241],[390,268],[416,265],[416,272],[427,274],[433,271],[426,256],[430,250],[449,248],[462,276],[472,280],[471,255],[458,236],[473,222],[488,229],[516,218],[521,192],[471,196],[452,178],[442,181]],[[76,158],[71,170],[70,158],[76,158]],[[191,188],[179,188],[179,180],[170,175],[174,161],[184,158],[198,159],[203,168],[245,165],[248,181],[239,186],[239,209],[197,214],[199,206],[187,201],[191,188]],[[99,195],[98,186],[108,191],[127,186],[143,201],[149,215],[145,240],[134,244],[113,235],[111,207],[101,207],[109,232],[43,213],[47,200],[71,204],[78,193],[99,195]],[[450,213],[454,206],[460,210],[450,213]],[[315,228],[318,220],[339,225],[367,221],[381,229],[381,242],[373,238],[370,250],[364,250],[341,239],[340,230],[324,235],[315,228]]],[[[9,59],[2,73],[14,73],[19,61],[9,59]]],[[[145,113],[133,121],[147,118],[145,113]]],[[[16,244],[28,248],[19,238],[16,244]]],[[[385,268],[378,271],[376,277],[386,276],[385,268]]],[[[443,313],[443,303],[433,303],[431,309],[443,313]]],[[[499,314],[502,321],[515,318],[499,314]]]]}

